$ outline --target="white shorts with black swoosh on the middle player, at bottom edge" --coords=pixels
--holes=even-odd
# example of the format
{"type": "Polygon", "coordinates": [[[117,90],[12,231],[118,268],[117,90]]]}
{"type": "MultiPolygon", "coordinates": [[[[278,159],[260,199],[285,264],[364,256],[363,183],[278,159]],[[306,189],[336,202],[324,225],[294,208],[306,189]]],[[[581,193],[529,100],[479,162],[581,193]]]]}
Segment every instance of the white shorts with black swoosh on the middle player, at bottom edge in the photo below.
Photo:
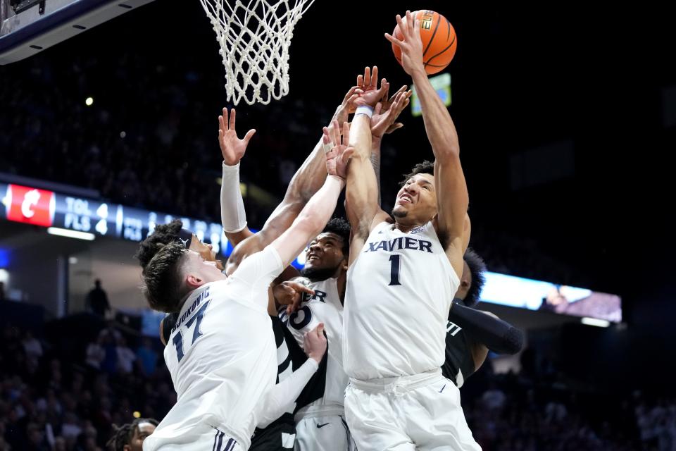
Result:
{"type": "Polygon", "coordinates": [[[310,416],[296,423],[296,451],[356,451],[343,415],[310,416]]]}

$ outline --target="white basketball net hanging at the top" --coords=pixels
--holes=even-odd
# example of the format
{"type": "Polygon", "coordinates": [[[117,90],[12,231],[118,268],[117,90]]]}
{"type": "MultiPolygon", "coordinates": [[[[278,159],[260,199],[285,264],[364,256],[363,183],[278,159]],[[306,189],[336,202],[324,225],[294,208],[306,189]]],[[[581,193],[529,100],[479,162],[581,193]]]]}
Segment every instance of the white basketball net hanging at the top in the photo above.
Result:
{"type": "Polygon", "coordinates": [[[269,104],[289,93],[294,26],[314,0],[200,0],[220,45],[227,100],[269,104]]]}

